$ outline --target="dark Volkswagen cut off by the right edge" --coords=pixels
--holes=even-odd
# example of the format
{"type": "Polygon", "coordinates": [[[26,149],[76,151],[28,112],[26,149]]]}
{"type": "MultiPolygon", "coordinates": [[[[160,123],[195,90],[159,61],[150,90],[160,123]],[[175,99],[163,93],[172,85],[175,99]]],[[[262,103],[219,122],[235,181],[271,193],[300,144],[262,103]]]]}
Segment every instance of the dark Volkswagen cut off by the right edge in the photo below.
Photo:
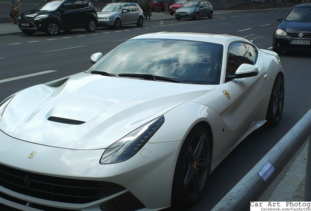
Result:
{"type": "Polygon", "coordinates": [[[291,8],[273,35],[273,51],[311,50],[311,4],[299,4],[291,8]]]}

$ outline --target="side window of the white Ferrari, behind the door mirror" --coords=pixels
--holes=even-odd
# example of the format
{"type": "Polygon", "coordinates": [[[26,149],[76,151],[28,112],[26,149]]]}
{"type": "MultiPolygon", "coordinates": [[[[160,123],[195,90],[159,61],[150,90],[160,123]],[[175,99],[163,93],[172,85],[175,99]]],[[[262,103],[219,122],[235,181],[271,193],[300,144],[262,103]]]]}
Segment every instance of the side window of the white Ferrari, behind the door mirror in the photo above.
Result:
{"type": "Polygon", "coordinates": [[[234,75],[243,63],[254,64],[257,58],[257,49],[245,42],[235,42],[229,46],[227,61],[227,76],[234,75]]]}

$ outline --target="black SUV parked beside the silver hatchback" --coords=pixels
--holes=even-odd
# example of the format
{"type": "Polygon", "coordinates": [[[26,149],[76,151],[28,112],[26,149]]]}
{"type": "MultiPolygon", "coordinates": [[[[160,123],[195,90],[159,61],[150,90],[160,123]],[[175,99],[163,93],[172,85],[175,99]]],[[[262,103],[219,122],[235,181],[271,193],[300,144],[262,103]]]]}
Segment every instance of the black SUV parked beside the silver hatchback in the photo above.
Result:
{"type": "Polygon", "coordinates": [[[45,0],[33,10],[22,13],[18,24],[26,35],[36,31],[57,35],[61,29],[69,32],[73,28],[94,32],[97,13],[89,0],[45,0]]]}

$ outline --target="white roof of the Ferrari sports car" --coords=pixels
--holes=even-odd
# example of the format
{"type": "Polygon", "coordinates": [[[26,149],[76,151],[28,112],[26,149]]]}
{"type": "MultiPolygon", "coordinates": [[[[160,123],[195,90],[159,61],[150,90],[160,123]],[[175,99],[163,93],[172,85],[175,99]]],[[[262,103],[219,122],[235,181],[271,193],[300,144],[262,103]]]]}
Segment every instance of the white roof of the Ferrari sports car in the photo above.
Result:
{"type": "Polygon", "coordinates": [[[172,39],[172,40],[190,40],[199,42],[212,42],[222,44],[224,46],[229,45],[230,42],[243,41],[250,43],[248,40],[227,35],[227,34],[205,34],[205,33],[188,33],[188,32],[157,32],[139,35],[132,39],[172,39]]]}

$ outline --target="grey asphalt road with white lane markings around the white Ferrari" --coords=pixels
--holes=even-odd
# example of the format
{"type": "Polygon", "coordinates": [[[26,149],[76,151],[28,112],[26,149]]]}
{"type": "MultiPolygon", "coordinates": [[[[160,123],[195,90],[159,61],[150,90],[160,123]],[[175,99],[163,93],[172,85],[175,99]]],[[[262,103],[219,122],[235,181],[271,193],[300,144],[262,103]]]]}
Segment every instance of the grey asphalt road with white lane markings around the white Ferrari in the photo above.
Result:
{"type": "MultiPolygon", "coordinates": [[[[287,11],[230,11],[215,13],[212,20],[171,20],[144,23],[142,28],[120,30],[99,28],[89,34],[83,29],[48,37],[15,35],[0,40],[0,101],[25,87],[45,83],[87,70],[92,53],[109,52],[118,44],[140,34],[160,31],[232,34],[253,40],[258,47],[271,49],[276,19],[287,11]],[[53,71],[46,73],[44,71],[53,71]],[[34,74],[34,76],[29,75],[34,74]],[[24,77],[22,79],[16,77],[24,77]]],[[[142,55],[143,56],[143,55],[142,55]]],[[[209,211],[311,108],[311,56],[283,53],[285,106],[278,127],[262,127],[251,133],[211,174],[199,203],[186,211],[209,211]]],[[[166,209],[170,211],[172,209],[166,209]]],[[[0,211],[15,211],[1,207],[0,211]]]]}

